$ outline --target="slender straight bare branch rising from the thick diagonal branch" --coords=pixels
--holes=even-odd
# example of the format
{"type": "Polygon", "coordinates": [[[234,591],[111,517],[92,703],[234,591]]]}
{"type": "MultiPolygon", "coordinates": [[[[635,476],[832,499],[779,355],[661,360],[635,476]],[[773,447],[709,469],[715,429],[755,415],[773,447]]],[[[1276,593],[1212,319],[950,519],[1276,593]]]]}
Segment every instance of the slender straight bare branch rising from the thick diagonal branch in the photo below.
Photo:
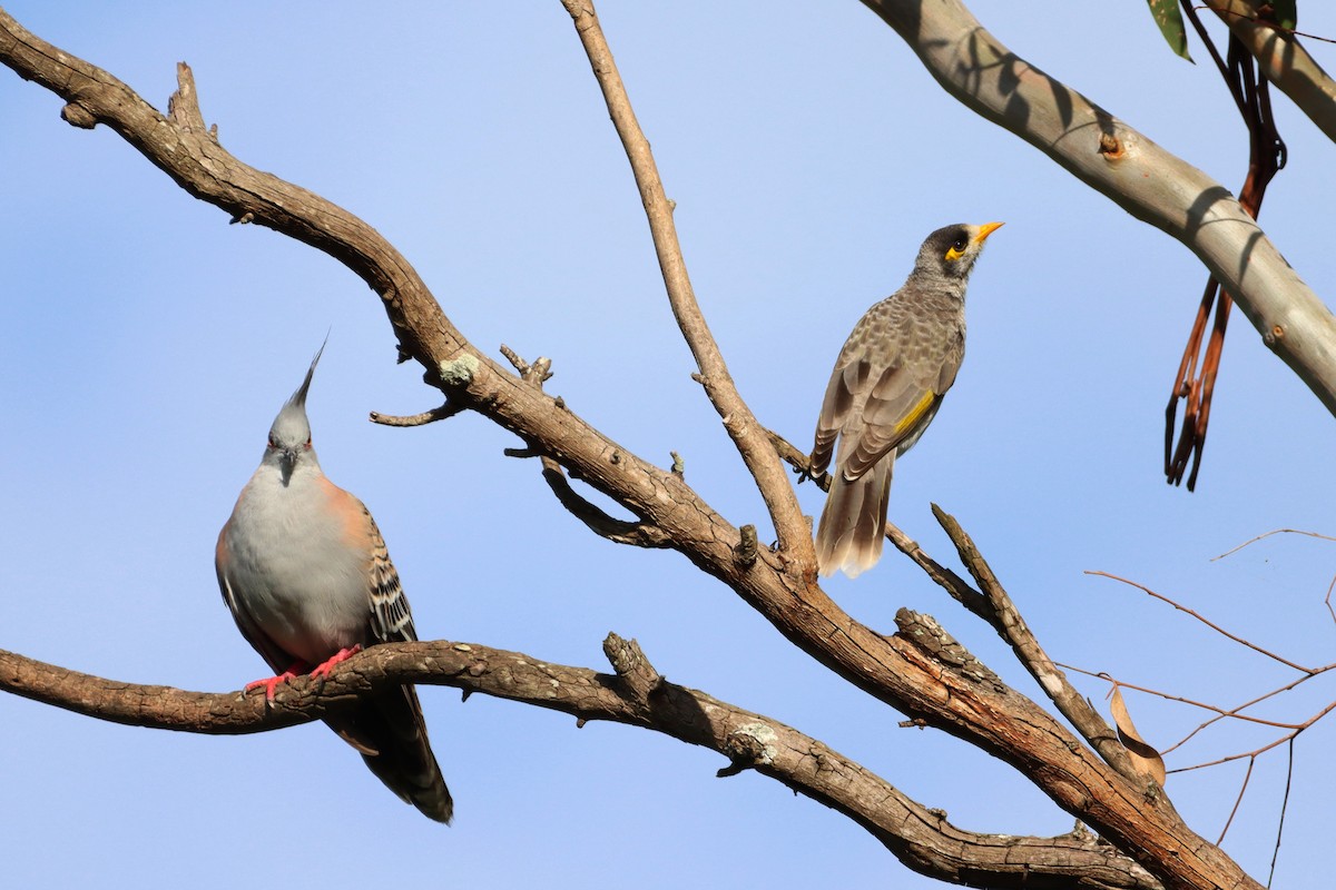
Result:
{"type": "Polygon", "coordinates": [[[627,159],[631,161],[631,169],[640,189],[640,200],[644,203],[645,216],[649,220],[649,232],[653,238],[655,254],[659,256],[664,286],[668,290],[668,302],[677,319],[677,327],[681,328],[687,346],[700,368],[699,379],[704,384],[705,395],[719,416],[723,418],[724,428],[732,436],[747,470],[756,480],[756,487],[775,526],[780,550],[788,552],[803,566],[815,566],[816,556],[811,530],[803,520],[794,488],[788,483],[774,448],[770,447],[767,430],[756,422],[751,408],[739,395],[728,366],[724,363],[724,356],[719,351],[719,344],[709,332],[700,304],[696,302],[691,278],[687,275],[681,244],[677,240],[673,204],[664,193],[659,168],[655,164],[653,152],[649,149],[649,140],[645,139],[640,123],[636,120],[593,3],[592,0],[562,0],[562,5],[574,20],[576,32],[589,56],[589,64],[599,80],[599,87],[603,89],[612,123],[627,149],[627,159]]]}

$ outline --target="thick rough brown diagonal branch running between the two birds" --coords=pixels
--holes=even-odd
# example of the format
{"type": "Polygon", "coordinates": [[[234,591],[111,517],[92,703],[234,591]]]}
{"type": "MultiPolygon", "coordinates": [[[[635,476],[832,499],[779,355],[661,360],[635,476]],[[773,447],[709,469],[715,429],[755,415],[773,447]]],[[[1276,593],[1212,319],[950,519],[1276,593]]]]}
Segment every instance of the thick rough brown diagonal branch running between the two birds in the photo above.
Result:
{"type": "MultiPolygon", "coordinates": [[[[739,530],[677,474],[620,448],[554,399],[478,354],[407,262],[366,223],[222,149],[203,129],[202,117],[191,112],[188,68],[179,71],[180,92],[168,117],[115,77],[40,41],[3,13],[0,61],[72,103],[80,125],[114,127],[190,193],[234,219],[273,227],[343,262],[381,294],[402,351],[424,364],[430,384],[526,443],[541,443],[542,454],[557,458],[572,475],[663,530],[676,550],[727,583],[820,663],[915,721],[945,729],[1013,765],[1165,886],[1256,886],[1188,829],[1162,795],[1109,769],[1034,702],[981,681],[978,673],[958,671],[955,662],[939,658],[946,650],[921,647],[900,634],[884,636],[854,620],[816,586],[806,559],[790,563],[766,548],[758,550],[755,562],[739,559],[739,530]]],[[[1213,204],[1204,207],[1194,219],[1216,219],[1213,204]]],[[[993,879],[993,873],[985,871],[977,882],[993,879]]]]}

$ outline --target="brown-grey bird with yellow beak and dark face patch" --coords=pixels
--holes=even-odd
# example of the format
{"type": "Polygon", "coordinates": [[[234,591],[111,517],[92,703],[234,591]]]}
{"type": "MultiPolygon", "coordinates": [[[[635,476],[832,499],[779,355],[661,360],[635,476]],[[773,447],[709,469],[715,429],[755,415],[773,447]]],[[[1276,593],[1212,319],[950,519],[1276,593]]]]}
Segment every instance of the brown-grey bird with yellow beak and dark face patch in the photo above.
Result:
{"type": "Polygon", "coordinates": [[[810,474],[835,467],[816,528],[816,567],[850,578],[882,555],[895,458],[933,422],[965,358],[965,284],[1002,223],[927,236],[904,286],[867,311],[844,342],[816,420],[810,474]],[[839,448],[835,450],[835,440],[839,448]]]}

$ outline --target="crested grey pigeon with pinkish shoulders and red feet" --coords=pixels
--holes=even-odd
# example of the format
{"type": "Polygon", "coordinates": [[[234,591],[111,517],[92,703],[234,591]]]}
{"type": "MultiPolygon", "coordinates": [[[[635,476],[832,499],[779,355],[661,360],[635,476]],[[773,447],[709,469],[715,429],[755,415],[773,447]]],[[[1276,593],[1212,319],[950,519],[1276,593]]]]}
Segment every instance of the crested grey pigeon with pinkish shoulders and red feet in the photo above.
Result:
{"type": "MultiPolygon", "coordinates": [[[[218,535],[218,584],[242,635],[277,677],[274,687],[330,669],[377,643],[415,640],[409,600],[375,520],[330,482],[311,448],[306,392],[321,360],[274,419],[265,458],[218,535]]],[[[378,779],[429,819],[449,823],[450,791],[411,686],[381,690],[325,722],[378,779]]]]}

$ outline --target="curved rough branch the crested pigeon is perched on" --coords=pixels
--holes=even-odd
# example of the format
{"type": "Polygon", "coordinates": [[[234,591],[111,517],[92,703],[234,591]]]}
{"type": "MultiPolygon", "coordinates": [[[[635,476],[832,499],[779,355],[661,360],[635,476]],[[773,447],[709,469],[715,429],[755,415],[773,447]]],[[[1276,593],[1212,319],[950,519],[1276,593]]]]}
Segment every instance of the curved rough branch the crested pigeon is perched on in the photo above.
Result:
{"type": "Polygon", "coordinates": [[[965,831],[860,765],[771,718],[668,683],[635,640],[611,634],[615,674],[553,664],[473,643],[373,646],[323,685],[306,678],[263,695],[188,693],[80,674],[0,650],[0,690],[114,723],[208,735],[309,723],[391,683],[453,686],[534,705],[580,721],[641,726],[729,758],[858,822],[908,867],[953,883],[1154,890],[1161,885],[1094,835],[1058,838],[965,831]]]}

